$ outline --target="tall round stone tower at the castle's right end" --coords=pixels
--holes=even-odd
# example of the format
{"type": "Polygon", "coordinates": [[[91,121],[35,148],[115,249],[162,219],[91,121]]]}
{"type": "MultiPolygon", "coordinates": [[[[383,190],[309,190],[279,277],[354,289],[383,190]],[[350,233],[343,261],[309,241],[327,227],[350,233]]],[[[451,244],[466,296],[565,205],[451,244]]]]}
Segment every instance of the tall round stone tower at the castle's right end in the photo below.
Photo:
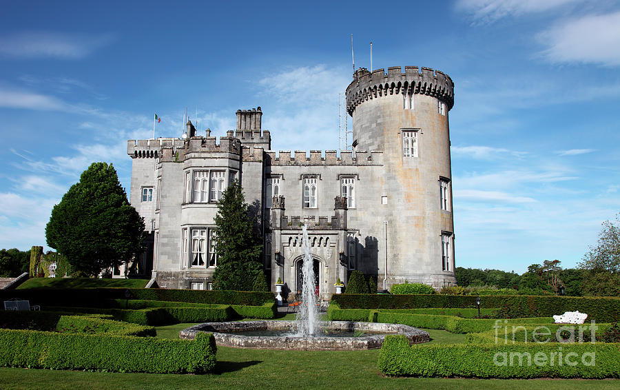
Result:
{"type": "MultiPolygon", "coordinates": [[[[430,68],[406,66],[356,71],[347,88],[353,149],[384,154],[384,218],[378,284],[408,280],[440,288],[456,283],[448,112],[452,79],[430,68]],[[421,72],[420,72],[421,71],[421,72]],[[387,269],[385,269],[387,267],[387,269]]],[[[379,201],[378,201],[379,203],[379,201]]]]}

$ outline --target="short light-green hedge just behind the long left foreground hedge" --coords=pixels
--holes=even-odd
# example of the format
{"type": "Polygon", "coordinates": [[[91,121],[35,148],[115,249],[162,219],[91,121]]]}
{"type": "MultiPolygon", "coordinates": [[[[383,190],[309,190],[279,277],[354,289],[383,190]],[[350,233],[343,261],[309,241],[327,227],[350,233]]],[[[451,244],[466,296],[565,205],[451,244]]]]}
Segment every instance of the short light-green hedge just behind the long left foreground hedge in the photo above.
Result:
{"type": "Polygon", "coordinates": [[[154,327],[119,322],[94,316],[61,316],[56,324],[61,333],[105,333],[110,336],[156,336],[154,327]]]}

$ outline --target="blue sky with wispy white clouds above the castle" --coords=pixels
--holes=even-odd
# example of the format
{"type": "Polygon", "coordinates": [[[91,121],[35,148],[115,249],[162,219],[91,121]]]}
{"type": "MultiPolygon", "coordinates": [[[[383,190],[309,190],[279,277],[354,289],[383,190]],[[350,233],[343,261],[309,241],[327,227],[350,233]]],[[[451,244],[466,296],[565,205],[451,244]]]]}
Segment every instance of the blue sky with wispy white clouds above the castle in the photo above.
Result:
{"type": "Polygon", "coordinates": [[[3,1],[0,247],[45,243],[93,161],[130,185],[127,139],[224,135],[262,107],[274,150],[338,148],[355,66],[427,66],[450,112],[457,266],[572,267],[620,211],[617,1],[3,1]],[[429,4],[430,3],[430,4],[429,4]],[[197,113],[197,114],[196,114],[197,113]]]}

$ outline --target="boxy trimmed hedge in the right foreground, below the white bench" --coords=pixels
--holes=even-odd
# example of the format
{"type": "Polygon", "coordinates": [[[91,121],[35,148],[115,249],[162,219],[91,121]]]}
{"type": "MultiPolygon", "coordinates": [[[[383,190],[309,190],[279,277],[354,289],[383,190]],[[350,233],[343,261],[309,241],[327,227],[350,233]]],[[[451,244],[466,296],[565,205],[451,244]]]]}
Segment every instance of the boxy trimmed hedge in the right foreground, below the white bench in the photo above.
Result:
{"type": "Polygon", "coordinates": [[[391,376],[620,378],[620,344],[409,345],[406,337],[389,335],[381,347],[378,367],[391,376]],[[572,353],[576,357],[568,355],[572,353]],[[592,363],[592,353],[595,361],[588,365],[592,363]],[[567,355],[568,362],[577,365],[569,365],[567,355]],[[537,356],[546,357],[546,364],[537,365],[537,361],[542,361],[537,356]]]}

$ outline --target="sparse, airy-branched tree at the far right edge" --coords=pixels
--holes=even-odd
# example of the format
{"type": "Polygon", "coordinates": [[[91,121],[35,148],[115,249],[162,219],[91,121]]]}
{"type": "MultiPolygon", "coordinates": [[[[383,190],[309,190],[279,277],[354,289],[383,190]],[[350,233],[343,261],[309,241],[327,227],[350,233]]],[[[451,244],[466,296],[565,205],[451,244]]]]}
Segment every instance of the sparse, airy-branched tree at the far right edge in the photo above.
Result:
{"type": "Polygon", "coordinates": [[[606,220],[595,247],[590,246],[579,267],[589,271],[620,271],[620,214],[616,222],[606,220]]]}

